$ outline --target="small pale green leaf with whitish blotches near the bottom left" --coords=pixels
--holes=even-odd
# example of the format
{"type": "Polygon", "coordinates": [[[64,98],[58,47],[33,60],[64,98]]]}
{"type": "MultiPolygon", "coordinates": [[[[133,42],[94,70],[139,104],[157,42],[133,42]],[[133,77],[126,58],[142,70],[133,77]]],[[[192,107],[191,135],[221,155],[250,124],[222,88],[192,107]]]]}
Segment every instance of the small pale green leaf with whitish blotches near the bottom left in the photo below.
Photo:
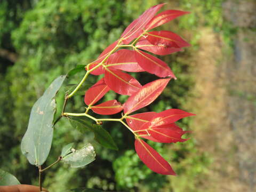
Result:
{"type": "Polygon", "coordinates": [[[95,160],[95,151],[91,143],[82,149],[75,150],[73,153],[63,157],[61,161],[70,164],[71,167],[85,166],[95,160]]]}

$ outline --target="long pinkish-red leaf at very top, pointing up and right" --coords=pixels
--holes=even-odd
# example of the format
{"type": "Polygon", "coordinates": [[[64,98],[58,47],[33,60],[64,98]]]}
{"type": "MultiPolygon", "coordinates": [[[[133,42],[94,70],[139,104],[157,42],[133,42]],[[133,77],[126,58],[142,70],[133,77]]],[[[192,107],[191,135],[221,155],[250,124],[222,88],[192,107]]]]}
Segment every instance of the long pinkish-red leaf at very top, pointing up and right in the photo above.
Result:
{"type": "Polygon", "coordinates": [[[146,10],[138,19],[135,19],[123,32],[121,38],[124,44],[129,44],[132,39],[137,38],[139,35],[143,33],[143,29],[147,25],[147,23],[154,17],[156,12],[163,6],[164,4],[155,5],[146,10]]]}

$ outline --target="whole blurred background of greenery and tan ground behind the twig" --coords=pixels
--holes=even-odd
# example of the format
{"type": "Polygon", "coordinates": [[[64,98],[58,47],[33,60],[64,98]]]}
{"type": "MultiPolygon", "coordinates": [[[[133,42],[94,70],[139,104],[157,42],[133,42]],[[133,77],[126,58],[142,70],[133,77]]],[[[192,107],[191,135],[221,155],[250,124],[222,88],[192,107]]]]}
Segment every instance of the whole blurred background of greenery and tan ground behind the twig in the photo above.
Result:
{"type": "MultiPolygon", "coordinates": [[[[97,58],[133,19],[162,2],[0,1],[1,169],[15,175],[21,183],[37,185],[37,169],[20,150],[36,99],[55,77],[97,58]]],[[[93,163],[83,169],[70,169],[63,164],[54,166],[44,174],[45,188],[56,192],[77,187],[142,192],[255,189],[256,19],[253,10],[256,3],[250,0],[165,2],[168,3],[165,10],[191,12],[164,29],[180,34],[192,46],[184,52],[162,57],[178,79],[171,81],[147,109],[180,108],[197,114],[195,118],[180,121],[181,127],[193,131],[187,142],[150,143],[171,162],[178,176],[159,175],[147,169],[134,153],[129,130],[118,123],[106,123],[104,127],[116,140],[119,151],[94,143],[97,159],[93,163]],[[238,13],[241,13],[239,17],[238,13]],[[241,70],[246,78],[238,73],[241,70]],[[236,107],[236,103],[244,105],[236,107]],[[242,120],[237,122],[237,118],[242,120]],[[243,132],[239,131],[241,128],[243,132]]],[[[79,82],[82,76],[83,73],[76,75],[69,83],[79,82]]],[[[89,83],[97,81],[96,78],[91,76],[89,83]]],[[[155,77],[143,73],[138,78],[145,84],[155,77]]],[[[107,97],[119,96],[110,92],[107,97]]],[[[118,98],[121,102],[125,99],[118,98]]],[[[63,95],[58,95],[58,100],[62,106],[63,95]]],[[[67,111],[83,111],[83,108],[81,95],[69,102],[67,111]]],[[[91,135],[73,130],[66,119],[61,119],[54,130],[46,164],[54,162],[61,148],[73,141],[82,146],[91,141],[91,135]]]]}

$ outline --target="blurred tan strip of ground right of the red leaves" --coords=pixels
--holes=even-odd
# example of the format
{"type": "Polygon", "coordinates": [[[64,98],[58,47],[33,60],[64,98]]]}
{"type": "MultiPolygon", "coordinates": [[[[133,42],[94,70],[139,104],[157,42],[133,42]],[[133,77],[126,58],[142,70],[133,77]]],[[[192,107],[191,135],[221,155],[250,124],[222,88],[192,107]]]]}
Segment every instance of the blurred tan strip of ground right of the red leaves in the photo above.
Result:
{"type": "Polygon", "coordinates": [[[227,60],[221,36],[202,28],[199,50],[194,58],[195,87],[190,111],[197,114],[193,125],[198,147],[208,151],[213,163],[203,181],[205,191],[249,191],[241,182],[237,143],[230,126],[227,60]]]}

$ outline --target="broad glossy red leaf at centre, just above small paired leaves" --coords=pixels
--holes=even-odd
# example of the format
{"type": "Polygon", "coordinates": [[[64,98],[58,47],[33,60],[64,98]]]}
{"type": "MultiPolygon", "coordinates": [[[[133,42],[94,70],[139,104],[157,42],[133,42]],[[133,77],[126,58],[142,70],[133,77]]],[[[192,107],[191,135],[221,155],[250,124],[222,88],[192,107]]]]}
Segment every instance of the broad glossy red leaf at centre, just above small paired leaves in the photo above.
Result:
{"type": "Polygon", "coordinates": [[[131,95],[142,87],[131,75],[111,69],[105,71],[105,82],[111,90],[123,95],[131,95]]]}

